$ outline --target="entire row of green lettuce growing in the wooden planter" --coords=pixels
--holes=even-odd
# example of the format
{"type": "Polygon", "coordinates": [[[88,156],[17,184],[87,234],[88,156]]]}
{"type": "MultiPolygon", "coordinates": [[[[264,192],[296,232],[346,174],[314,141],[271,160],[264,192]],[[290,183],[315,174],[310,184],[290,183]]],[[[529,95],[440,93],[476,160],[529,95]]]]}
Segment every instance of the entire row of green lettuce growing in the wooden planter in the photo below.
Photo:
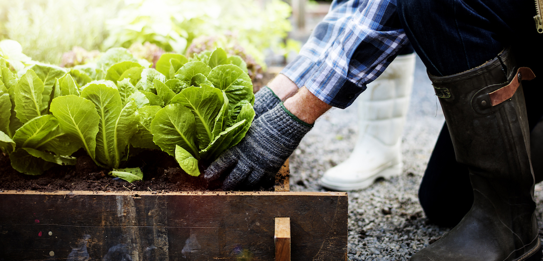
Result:
{"type": "Polygon", "coordinates": [[[141,170],[119,169],[134,147],[161,149],[198,176],[255,115],[247,68],[222,49],[191,60],[163,54],[154,69],[112,48],[72,69],[35,62],[21,77],[0,58],[0,72],[0,149],[30,175],[75,164],[83,149],[111,175],[137,180],[141,170]]]}

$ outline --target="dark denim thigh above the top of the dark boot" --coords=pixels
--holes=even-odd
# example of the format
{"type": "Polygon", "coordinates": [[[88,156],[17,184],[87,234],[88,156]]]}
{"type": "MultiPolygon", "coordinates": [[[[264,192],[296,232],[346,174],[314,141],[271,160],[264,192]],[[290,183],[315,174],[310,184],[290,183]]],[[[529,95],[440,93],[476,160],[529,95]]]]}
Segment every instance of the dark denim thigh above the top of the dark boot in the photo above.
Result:
{"type": "Polygon", "coordinates": [[[409,41],[435,76],[475,68],[538,35],[533,0],[397,0],[397,8],[409,41]]]}

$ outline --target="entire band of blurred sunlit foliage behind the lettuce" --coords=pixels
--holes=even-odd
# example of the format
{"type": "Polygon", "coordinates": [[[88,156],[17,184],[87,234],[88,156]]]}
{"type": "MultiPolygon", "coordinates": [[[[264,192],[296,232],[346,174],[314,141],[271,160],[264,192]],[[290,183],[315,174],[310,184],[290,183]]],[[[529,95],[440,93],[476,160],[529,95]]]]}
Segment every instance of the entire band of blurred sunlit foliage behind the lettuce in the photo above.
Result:
{"type": "Polygon", "coordinates": [[[197,37],[219,36],[209,49],[241,49],[264,67],[264,50],[298,47],[284,40],[290,15],[280,0],[0,0],[0,40],[20,42],[33,60],[59,64],[73,47],[104,52],[150,42],[185,54],[197,37]]]}

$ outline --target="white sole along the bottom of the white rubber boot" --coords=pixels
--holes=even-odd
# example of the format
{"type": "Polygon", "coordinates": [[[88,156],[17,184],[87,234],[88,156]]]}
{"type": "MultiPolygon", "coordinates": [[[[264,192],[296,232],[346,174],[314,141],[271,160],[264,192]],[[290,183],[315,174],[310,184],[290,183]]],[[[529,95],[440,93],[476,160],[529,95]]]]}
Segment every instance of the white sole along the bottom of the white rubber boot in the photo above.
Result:
{"type": "Polygon", "coordinates": [[[379,171],[378,173],[371,175],[367,177],[367,179],[364,179],[362,181],[355,181],[355,182],[350,182],[350,183],[338,183],[338,182],[333,182],[331,180],[320,179],[319,184],[320,186],[323,186],[325,188],[337,190],[337,191],[359,190],[359,189],[364,189],[371,186],[371,184],[373,184],[375,180],[379,178],[389,179],[390,177],[398,176],[402,173],[402,171],[403,171],[403,163],[399,163],[399,164],[392,165],[386,169],[383,169],[379,171]]]}

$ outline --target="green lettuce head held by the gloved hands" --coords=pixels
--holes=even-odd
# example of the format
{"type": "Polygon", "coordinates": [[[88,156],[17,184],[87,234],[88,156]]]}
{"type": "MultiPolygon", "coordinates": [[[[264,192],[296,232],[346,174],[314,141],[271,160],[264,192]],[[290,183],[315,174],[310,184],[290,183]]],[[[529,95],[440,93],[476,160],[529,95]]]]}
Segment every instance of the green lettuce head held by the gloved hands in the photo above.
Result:
{"type": "Polygon", "coordinates": [[[157,93],[169,102],[150,125],[154,143],[193,176],[200,174],[200,161],[205,165],[236,145],[255,116],[251,79],[235,65],[243,67],[241,59],[229,57],[222,49],[200,58],[188,61],[169,55],[157,62],[157,69],[167,73],[180,91],[174,96],[173,91],[160,91],[165,85],[155,81],[157,93]]]}

